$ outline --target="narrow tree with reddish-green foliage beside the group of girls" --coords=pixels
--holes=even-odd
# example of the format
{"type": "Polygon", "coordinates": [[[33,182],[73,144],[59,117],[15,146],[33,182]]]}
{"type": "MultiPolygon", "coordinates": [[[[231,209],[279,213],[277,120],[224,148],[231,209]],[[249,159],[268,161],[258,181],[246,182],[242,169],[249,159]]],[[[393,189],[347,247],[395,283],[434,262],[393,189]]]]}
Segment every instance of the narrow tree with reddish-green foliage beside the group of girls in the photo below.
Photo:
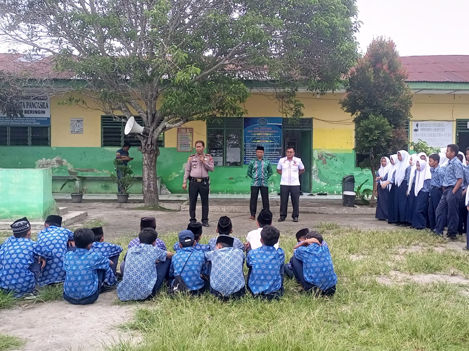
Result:
{"type": "MultiPolygon", "coordinates": [[[[406,83],[408,73],[402,67],[392,40],[379,37],[351,69],[342,108],[355,122],[355,151],[367,157],[359,163],[374,176],[382,156],[405,148],[405,126],[410,119],[412,91],[406,83]]],[[[373,197],[376,183],[373,186],[373,197]]]]}

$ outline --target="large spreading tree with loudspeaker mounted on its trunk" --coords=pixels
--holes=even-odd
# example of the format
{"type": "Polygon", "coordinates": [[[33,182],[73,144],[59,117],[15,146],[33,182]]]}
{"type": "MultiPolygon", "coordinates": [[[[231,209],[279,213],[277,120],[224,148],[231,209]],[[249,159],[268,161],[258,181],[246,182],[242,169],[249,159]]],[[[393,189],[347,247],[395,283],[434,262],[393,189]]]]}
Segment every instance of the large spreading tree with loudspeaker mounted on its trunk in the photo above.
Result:
{"type": "Polygon", "coordinates": [[[338,88],[357,56],[355,0],[3,0],[0,14],[5,44],[54,55],[106,114],[153,131],[139,136],[146,205],[161,132],[242,116],[246,80],[271,83],[282,113],[301,117],[297,88],[338,88]]]}

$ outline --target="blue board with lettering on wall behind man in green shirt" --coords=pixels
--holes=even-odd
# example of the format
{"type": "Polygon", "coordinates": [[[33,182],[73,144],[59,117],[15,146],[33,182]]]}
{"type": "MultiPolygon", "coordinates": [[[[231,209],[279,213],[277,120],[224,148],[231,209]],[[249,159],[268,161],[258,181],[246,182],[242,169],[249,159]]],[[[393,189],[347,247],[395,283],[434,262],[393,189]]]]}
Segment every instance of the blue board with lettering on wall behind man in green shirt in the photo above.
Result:
{"type": "Polygon", "coordinates": [[[244,164],[256,158],[257,146],[264,146],[264,158],[278,163],[282,157],[282,117],[244,118],[244,164]]]}

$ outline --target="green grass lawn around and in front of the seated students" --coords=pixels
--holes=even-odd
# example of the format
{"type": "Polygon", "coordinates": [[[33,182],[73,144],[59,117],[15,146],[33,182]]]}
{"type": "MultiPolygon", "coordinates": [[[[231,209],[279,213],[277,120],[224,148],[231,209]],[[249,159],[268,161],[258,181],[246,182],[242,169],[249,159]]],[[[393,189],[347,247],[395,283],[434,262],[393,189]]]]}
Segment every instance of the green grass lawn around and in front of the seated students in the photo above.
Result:
{"type": "MultiPolygon", "coordinates": [[[[173,299],[165,292],[144,303],[116,299],[118,305],[136,308],[134,317],[119,327],[122,336],[135,338],[123,337],[104,347],[108,351],[469,350],[468,253],[447,249],[443,239],[416,230],[360,230],[334,223],[317,223],[316,229],[330,247],[338,276],[333,298],[300,293],[298,285],[286,278],[280,301],[245,297],[221,303],[209,294],[173,299]],[[393,272],[457,274],[464,284],[377,282],[376,277],[391,277],[393,272]]],[[[210,237],[204,234],[201,242],[210,237]]],[[[132,238],[112,240],[124,248],[121,259],[132,238]]],[[[160,238],[172,249],[177,235],[160,238]]],[[[295,241],[294,233],[282,233],[286,262],[295,241]]],[[[59,292],[60,286],[55,287],[42,300],[61,298],[59,292]]],[[[0,294],[0,307],[14,303],[0,294]]]]}

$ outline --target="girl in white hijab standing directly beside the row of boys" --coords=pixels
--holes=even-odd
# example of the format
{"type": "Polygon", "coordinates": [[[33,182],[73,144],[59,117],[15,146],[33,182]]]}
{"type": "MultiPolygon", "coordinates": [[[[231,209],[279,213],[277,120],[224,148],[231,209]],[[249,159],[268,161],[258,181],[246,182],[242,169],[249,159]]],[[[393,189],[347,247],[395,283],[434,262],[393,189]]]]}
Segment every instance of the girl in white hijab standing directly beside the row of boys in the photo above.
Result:
{"type": "Polygon", "coordinates": [[[424,229],[427,227],[428,196],[430,192],[431,172],[430,167],[424,160],[417,161],[417,172],[415,179],[415,211],[412,219],[412,227],[424,229]]]}

